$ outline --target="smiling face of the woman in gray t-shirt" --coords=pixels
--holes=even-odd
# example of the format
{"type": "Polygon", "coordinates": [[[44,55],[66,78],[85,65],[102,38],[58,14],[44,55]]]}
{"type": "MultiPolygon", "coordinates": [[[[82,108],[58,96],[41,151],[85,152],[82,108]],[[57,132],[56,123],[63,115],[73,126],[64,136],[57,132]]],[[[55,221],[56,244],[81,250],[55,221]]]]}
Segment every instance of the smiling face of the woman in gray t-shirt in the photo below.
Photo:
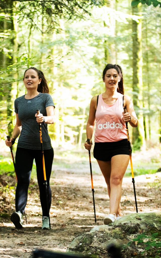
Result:
{"type": "Polygon", "coordinates": [[[38,84],[40,84],[41,82],[41,78],[39,79],[38,74],[35,70],[28,69],[25,72],[23,82],[27,89],[37,89],[38,84]]]}

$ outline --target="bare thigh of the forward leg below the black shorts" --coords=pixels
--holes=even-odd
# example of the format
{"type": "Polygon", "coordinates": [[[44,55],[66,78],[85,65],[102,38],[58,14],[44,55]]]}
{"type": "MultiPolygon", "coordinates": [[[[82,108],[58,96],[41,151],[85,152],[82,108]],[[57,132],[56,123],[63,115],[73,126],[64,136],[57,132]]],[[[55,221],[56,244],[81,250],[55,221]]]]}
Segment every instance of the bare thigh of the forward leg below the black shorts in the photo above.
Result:
{"type": "Polygon", "coordinates": [[[130,160],[129,155],[120,154],[111,158],[111,176],[122,179],[130,160]]]}

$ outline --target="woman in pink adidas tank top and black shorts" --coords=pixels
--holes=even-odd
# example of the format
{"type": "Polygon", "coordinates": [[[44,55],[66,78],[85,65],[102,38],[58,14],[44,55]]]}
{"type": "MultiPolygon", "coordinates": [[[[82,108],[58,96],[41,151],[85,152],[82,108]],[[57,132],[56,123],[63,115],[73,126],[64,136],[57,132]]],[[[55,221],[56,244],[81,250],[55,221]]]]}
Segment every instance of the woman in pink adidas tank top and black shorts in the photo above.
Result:
{"type": "Polygon", "coordinates": [[[122,180],[130,159],[125,122],[137,127],[138,119],[130,97],[124,96],[123,100],[121,67],[107,64],[103,71],[103,81],[106,91],[91,99],[86,127],[90,144],[85,142],[84,146],[87,150],[91,149],[96,124],[94,157],[107,184],[109,214],[105,216],[104,224],[109,224],[121,217],[122,180]],[[125,114],[123,107],[127,110],[125,114]]]}

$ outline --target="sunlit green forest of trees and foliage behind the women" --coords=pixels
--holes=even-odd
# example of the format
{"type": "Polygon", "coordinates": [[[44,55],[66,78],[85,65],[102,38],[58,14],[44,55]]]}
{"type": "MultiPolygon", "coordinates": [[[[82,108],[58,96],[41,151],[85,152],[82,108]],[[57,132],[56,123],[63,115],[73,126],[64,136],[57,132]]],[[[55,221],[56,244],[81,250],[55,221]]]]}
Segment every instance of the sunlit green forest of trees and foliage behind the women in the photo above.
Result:
{"type": "Polygon", "coordinates": [[[106,63],[121,65],[139,119],[135,149],[161,141],[159,1],[31,0],[0,3],[0,132],[15,125],[23,73],[42,70],[55,103],[55,146],[86,140],[90,99],[104,91],[106,63]]]}

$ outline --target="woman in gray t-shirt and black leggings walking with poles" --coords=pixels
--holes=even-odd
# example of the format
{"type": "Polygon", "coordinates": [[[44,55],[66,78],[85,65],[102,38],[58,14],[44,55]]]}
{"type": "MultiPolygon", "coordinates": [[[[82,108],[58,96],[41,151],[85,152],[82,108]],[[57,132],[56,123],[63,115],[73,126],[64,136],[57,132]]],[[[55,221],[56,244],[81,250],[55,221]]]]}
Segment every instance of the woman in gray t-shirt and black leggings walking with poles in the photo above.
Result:
{"type": "Polygon", "coordinates": [[[17,176],[15,194],[16,211],[12,213],[11,221],[14,223],[16,228],[20,229],[23,227],[23,213],[27,204],[31,170],[33,160],[35,159],[37,180],[40,190],[40,202],[43,212],[42,229],[49,229],[49,211],[47,208],[44,187],[39,123],[41,123],[42,128],[48,204],[50,209],[52,194],[49,180],[52,171],[54,150],[51,146],[47,124],[53,124],[55,122],[55,106],[52,97],[49,94],[48,84],[42,71],[34,67],[30,67],[24,72],[23,82],[27,88],[27,94],[17,98],[14,102],[16,125],[13,129],[10,141],[5,141],[6,145],[11,147],[15,139],[20,134],[15,157],[17,176]],[[36,110],[40,110],[40,114],[37,114],[36,110]]]}

